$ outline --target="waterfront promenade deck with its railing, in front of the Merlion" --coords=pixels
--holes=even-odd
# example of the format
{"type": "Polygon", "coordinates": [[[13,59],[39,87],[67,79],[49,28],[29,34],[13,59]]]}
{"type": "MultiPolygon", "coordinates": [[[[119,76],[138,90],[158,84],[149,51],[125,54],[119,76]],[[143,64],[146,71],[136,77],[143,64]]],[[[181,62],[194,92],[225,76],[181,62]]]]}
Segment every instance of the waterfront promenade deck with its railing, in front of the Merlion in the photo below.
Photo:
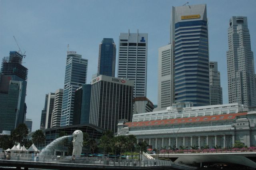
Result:
{"type": "Polygon", "coordinates": [[[87,170],[196,170],[194,166],[178,164],[168,160],[120,160],[112,158],[93,158],[93,157],[72,157],[72,156],[51,156],[32,154],[0,154],[1,167],[24,168],[43,168],[43,169],[84,169],[87,170]]]}

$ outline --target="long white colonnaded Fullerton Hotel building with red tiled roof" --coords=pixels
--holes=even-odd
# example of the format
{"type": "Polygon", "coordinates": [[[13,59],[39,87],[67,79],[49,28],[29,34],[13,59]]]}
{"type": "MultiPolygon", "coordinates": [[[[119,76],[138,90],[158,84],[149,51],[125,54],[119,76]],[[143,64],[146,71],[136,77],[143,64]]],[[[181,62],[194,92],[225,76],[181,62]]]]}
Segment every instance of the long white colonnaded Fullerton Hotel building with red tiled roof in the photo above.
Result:
{"type": "Polygon", "coordinates": [[[238,103],[201,107],[176,103],[164,111],[136,114],[132,122],[120,120],[118,135],[134,134],[152,148],[229,148],[236,140],[254,146],[255,122],[256,111],[238,103]]]}

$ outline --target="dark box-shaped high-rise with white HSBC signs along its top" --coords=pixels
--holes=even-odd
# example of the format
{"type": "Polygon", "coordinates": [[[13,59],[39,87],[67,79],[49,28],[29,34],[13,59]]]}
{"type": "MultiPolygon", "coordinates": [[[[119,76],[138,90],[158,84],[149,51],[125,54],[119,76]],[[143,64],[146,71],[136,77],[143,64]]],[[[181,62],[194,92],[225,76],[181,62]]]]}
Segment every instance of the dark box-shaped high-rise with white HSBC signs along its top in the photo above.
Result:
{"type": "Polygon", "coordinates": [[[100,75],[92,79],[90,124],[117,132],[119,119],[132,120],[134,81],[100,75]]]}

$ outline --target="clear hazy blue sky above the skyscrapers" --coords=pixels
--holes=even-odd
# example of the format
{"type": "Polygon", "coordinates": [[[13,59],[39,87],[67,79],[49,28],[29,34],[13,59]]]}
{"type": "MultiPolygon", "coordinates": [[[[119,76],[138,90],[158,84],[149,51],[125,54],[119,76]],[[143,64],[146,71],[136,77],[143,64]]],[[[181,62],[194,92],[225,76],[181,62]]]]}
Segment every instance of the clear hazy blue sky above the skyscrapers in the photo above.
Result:
{"type": "Polygon", "coordinates": [[[26,51],[26,118],[33,121],[32,131],[40,128],[45,94],[64,87],[67,45],[69,51],[77,51],[88,59],[90,83],[92,74],[97,73],[102,39],[114,39],[118,61],[118,37],[128,29],[131,33],[148,33],[147,98],[157,104],[158,48],[170,42],[172,6],[186,2],[207,6],[209,57],[218,62],[223,103],[228,103],[229,19],[248,17],[255,53],[256,0],[0,0],[0,60],[10,51],[18,51],[15,36],[22,52],[26,51]]]}

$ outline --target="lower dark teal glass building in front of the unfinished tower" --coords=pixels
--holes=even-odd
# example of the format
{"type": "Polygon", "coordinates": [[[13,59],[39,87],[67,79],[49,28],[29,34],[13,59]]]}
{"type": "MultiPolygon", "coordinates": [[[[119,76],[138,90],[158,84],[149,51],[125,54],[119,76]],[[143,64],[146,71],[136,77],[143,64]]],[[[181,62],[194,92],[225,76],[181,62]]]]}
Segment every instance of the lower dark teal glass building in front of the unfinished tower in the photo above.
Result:
{"type": "Polygon", "coordinates": [[[22,97],[22,81],[4,80],[1,77],[1,85],[8,84],[8,91],[0,93],[0,132],[12,131],[18,126],[19,108],[22,97]]]}

